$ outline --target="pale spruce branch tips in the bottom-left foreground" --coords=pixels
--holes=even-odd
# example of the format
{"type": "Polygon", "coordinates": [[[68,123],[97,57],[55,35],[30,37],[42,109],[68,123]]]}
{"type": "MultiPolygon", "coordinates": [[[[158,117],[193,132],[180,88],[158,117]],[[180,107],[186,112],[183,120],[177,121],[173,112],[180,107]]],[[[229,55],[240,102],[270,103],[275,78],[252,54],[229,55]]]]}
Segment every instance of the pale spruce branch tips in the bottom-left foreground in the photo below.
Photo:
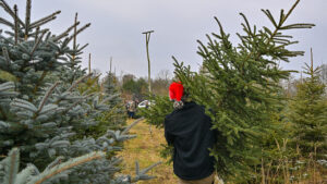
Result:
{"type": "MultiPolygon", "coordinates": [[[[0,161],[0,182],[1,184],[41,184],[41,183],[63,183],[63,181],[69,177],[69,174],[78,169],[78,167],[86,164],[93,160],[101,159],[106,157],[106,154],[102,151],[90,152],[77,158],[63,161],[63,157],[58,157],[52,161],[47,168],[39,172],[39,170],[32,163],[27,164],[25,169],[20,171],[20,150],[13,148],[9,156],[0,161]]],[[[114,160],[117,162],[118,160],[114,160]]],[[[112,162],[111,164],[114,164],[112,162]]],[[[147,172],[154,167],[160,164],[160,162],[155,163],[146,169],[140,170],[138,162],[135,162],[135,173],[134,177],[130,175],[120,175],[116,180],[111,180],[110,184],[130,184],[141,180],[150,180],[154,176],[147,175],[147,172]]],[[[88,183],[84,181],[82,183],[88,183]]],[[[105,183],[105,181],[102,181],[105,183]]]]}

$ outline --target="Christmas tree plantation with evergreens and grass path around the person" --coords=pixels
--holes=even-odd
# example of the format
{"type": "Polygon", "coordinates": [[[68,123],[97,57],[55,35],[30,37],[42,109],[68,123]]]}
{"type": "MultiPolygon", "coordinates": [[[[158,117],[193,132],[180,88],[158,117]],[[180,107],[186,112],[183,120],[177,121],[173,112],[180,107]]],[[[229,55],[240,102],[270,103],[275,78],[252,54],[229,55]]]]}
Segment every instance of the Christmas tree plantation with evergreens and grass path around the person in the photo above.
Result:
{"type": "Polygon", "coordinates": [[[0,0],[0,184],[175,184],[167,162],[179,149],[167,144],[165,118],[189,102],[215,132],[202,143],[214,144],[216,184],[327,183],[327,65],[311,49],[302,71],[280,66],[304,56],[292,34],[315,27],[296,19],[300,0],[262,10],[265,26],[240,13],[237,44],[215,17],[218,29],[197,40],[198,71],[172,57],[173,75],[148,70],[149,79],[119,76],[111,63],[92,70],[80,35],[97,30],[78,13],[58,33],[48,23],[61,11],[34,17],[37,1],[13,3],[0,0]],[[172,82],[184,87],[181,101],[168,97],[172,82]]]}

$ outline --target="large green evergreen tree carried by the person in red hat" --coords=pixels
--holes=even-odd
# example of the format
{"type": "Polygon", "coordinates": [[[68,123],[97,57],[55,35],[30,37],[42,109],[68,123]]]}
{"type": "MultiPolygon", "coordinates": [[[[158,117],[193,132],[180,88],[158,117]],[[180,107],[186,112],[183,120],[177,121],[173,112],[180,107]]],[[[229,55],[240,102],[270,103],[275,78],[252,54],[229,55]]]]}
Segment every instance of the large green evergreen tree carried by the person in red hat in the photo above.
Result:
{"type": "MultiPolygon", "coordinates": [[[[288,12],[281,10],[278,21],[269,10],[262,10],[272,28],[251,26],[241,13],[244,23],[243,34],[237,34],[240,38],[238,46],[233,46],[230,35],[215,17],[219,33],[207,35],[207,44],[198,41],[197,53],[203,58],[199,73],[192,72],[190,66],[173,58],[177,77],[189,90],[190,98],[206,107],[213,128],[219,132],[211,155],[216,158],[217,173],[227,182],[265,182],[262,176],[265,174],[259,169],[264,168],[263,161],[267,159],[270,162],[287,154],[276,146],[281,140],[280,128],[284,127],[278,120],[284,101],[279,82],[288,78],[292,71],[281,70],[278,63],[289,62],[290,58],[303,56],[303,52],[288,49],[298,41],[293,41],[284,30],[314,26],[287,24],[299,2],[296,0],[288,12]]],[[[162,112],[164,106],[160,108],[159,105],[162,103],[153,108],[162,112]]],[[[146,116],[150,119],[148,122],[164,123],[162,116],[154,118],[157,112],[152,112],[152,109],[149,112],[153,114],[146,116]]]]}

